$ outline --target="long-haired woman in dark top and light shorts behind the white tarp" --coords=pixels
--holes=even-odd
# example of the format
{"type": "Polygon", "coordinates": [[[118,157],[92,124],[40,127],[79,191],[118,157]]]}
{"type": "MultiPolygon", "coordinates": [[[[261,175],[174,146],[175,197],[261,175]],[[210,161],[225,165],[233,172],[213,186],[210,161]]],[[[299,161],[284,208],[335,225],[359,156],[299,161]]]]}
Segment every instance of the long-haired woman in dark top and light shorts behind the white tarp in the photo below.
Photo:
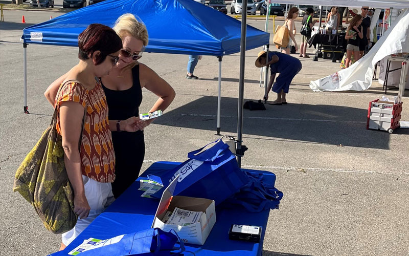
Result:
{"type": "Polygon", "coordinates": [[[357,14],[352,18],[351,23],[348,26],[345,34],[345,39],[348,40],[347,45],[347,58],[345,60],[345,68],[349,67],[351,61],[351,55],[354,55],[354,61],[357,61],[359,57],[359,41],[363,37],[362,32],[362,16],[357,14]]]}

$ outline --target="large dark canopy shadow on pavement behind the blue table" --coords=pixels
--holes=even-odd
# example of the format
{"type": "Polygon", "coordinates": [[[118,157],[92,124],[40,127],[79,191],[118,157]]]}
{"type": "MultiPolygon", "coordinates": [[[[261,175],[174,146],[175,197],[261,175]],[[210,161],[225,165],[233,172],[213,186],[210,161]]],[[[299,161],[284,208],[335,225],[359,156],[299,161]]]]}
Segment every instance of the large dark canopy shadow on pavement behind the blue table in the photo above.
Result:
{"type": "MultiPolygon", "coordinates": [[[[226,132],[237,133],[237,104],[236,98],[221,99],[222,135],[226,132]]],[[[264,106],[265,111],[243,111],[245,136],[389,149],[391,135],[388,132],[366,129],[368,110],[296,102],[288,102],[287,105],[281,106],[268,104],[264,106]]],[[[217,97],[204,96],[166,112],[164,116],[155,120],[155,124],[216,131],[216,115],[217,97]]],[[[403,130],[396,130],[396,134],[405,134],[403,130]]]]}

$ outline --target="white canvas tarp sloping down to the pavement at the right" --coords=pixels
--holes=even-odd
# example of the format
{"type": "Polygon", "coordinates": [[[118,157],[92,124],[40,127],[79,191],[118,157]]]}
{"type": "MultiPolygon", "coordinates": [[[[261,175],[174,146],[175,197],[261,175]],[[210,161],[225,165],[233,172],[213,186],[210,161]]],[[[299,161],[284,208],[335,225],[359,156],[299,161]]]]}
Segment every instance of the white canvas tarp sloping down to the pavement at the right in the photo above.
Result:
{"type": "Polygon", "coordinates": [[[375,64],[386,56],[409,52],[409,9],[402,12],[363,58],[348,69],[338,71],[327,77],[311,81],[310,88],[315,91],[363,91],[372,83],[375,64]]]}

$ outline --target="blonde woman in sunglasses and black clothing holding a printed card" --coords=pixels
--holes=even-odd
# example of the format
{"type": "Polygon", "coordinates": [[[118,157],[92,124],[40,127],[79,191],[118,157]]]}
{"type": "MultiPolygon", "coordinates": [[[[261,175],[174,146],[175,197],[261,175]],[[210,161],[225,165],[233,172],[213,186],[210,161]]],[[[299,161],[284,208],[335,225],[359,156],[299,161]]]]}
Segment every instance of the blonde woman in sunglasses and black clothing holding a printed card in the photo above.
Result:
{"type": "MultiPolygon", "coordinates": [[[[175,97],[169,83],[152,69],[138,62],[148,45],[146,26],[127,13],[117,19],[113,29],[122,39],[117,66],[109,75],[101,77],[109,112],[116,157],[116,179],[112,192],[118,198],[139,176],[145,156],[144,128],[154,119],[139,119],[142,88],[153,92],[158,99],[149,112],[164,111],[175,97]]],[[[54,81],[44,93],[51,104],[65,75],[54,81]]]]}

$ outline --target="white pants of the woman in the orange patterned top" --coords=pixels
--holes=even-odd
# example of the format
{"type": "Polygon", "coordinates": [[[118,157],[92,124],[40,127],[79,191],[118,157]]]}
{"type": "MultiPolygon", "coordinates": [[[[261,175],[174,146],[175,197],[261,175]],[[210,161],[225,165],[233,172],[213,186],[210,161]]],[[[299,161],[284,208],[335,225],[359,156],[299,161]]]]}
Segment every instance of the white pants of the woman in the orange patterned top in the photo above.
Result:
{"type": "Polygon", "coordinates": [[[89,215],[87,218],[78,218],[75,227],[65,233],[62,233],[62,243],[69,245],[91,222],[98,217],[101,212],[108,207],[115,198],[112,194],[111,183],[101,183],[93,179],[89,179],[85,175],[82,175],[82,181],[84,183],[85,197],[88,201],[89,215]]]}

